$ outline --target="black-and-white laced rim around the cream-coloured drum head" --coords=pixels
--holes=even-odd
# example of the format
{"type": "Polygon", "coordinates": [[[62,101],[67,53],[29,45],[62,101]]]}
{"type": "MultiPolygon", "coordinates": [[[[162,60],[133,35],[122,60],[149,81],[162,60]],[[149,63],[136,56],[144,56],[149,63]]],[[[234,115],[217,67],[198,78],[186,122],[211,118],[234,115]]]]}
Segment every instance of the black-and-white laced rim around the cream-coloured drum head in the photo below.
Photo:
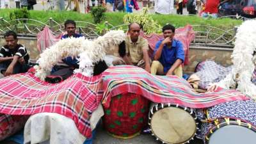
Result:
{"type": "Polygon", "coordinates": [[[187,108],[185,106],[180,106],[179,104],[172,104],[172,103],[168,103],[168,104],[155,104],[149,111],[148,113],[148,125],[150,127],[150,133],[152,136],[154,136],[156,138],[157,141],[161,141],[162,143],[168,143],[168,144],[178,144],[178,143],[169,143],[167,141],[162,140],[161,138],[159,138],[158,136],[156,136],[156,134],[152,131],[152,126],[151,126],[151,120],[152,120],[152,116],[154,115],[154,113],[156,111],[159,111],[160,109],[163,108],[169,108],[169,107],[174,107],[174,108],[179,108],[182,109],[186,112],[188,112],[189,115],[191,115],[195,121],[195,132],[194,134],[186,141],[183,141],[183,143],[189,143],[190,140],[194,140],[194,137],[197,135],[196,132],[198,130],[198,122],[196,121],[197,116],[196,116],[196,112],[194,109],[192,108],[187,108]]]}

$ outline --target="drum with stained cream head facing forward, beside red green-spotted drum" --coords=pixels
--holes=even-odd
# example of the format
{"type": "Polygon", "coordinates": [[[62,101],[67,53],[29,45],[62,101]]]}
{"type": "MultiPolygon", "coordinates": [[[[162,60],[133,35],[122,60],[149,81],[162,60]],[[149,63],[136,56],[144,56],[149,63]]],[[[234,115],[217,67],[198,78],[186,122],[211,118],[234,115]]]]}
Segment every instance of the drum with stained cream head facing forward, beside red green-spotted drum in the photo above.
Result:
{"type": "Polygon", "coordinates": [[[162,143],[189,143],[196,135],[194,109],[178,104],[154,104],[148,115],[150,132],[162,143]]]}

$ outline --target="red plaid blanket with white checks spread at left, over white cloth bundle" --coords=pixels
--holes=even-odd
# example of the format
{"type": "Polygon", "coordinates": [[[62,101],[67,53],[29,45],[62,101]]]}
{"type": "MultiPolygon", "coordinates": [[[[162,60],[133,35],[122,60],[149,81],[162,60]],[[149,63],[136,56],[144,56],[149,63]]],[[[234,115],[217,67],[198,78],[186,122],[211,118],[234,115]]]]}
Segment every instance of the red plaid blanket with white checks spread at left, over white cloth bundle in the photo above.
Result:
{"type": "Polygon", "coordinates": [[[62,83],[49,84],[29,73],[4,77],[0,80],[0,113],[59,113],[72,118],[79,132],[90,137],[89,118],[102,99],[101,80],[101,76],[76,74],[62,83]]]}

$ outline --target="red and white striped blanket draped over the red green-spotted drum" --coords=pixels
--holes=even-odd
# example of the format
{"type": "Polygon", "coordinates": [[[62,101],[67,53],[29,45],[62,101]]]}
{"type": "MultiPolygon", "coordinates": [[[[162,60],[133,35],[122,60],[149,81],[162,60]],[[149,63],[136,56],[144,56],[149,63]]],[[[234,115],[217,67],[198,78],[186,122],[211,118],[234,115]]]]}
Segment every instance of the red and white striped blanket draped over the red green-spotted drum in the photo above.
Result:
{"type": "Polygon", "coordinates": [[[103,74],[104,100],[108,108],[111,97],[124,92],[143,95],[153,102],[175,103],[189,108],[208,108],[222,102],[246,100],[236,90],[219,88],[212,93],[196,93],[184,79],[177,76],[152,76],[132,66],[108,68],[103,74]]]}

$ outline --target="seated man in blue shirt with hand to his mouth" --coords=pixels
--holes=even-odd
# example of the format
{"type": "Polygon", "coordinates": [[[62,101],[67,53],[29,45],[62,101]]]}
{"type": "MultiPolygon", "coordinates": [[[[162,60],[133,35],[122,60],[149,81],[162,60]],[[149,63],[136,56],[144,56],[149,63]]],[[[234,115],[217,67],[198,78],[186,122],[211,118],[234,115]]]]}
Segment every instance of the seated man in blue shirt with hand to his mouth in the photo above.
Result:
{"type": "Polygon", "coordinates": [[[179,40],[173,39],[174,26],[167,24],[163,27],[164,39],[159,40],[154,50],[154,61],[151,65],[151,74],[176,75],[182,77],[182,63],[184,62],[184,49],[179,40]]]}

